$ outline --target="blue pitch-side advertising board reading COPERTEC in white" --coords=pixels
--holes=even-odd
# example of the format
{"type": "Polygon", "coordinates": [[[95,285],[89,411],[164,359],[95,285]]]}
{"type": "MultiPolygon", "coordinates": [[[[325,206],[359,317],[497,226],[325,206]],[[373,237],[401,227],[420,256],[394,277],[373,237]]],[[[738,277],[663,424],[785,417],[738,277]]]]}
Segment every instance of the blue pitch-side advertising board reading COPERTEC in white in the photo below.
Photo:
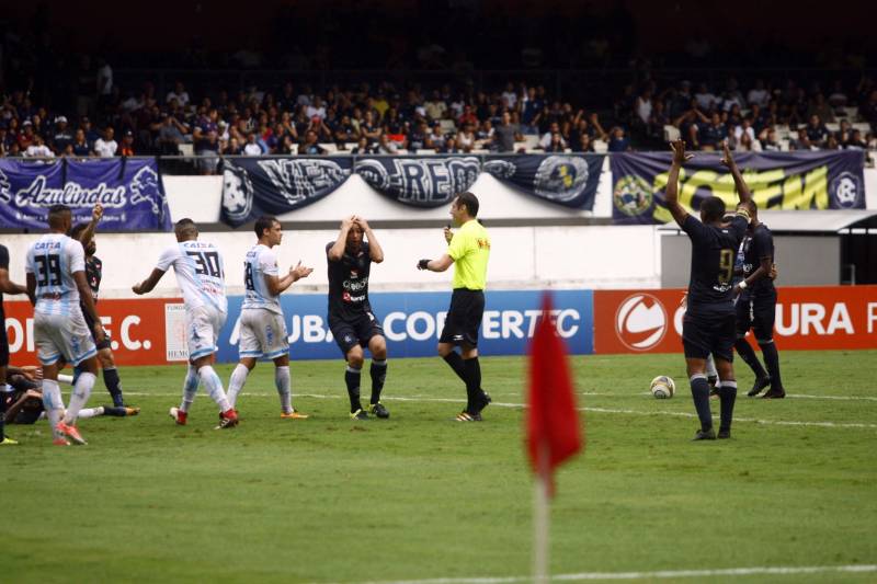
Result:
{"type": "MultiPolygon", "coordinates": [[[[554,317],[570,353],[586,355],[593,345],[593,293],[558,290],[554,294],[554,317]]],[[[451,293],[369,294],[375,317],[384,327],[390,358],[435,356],[451,304],[451,293]]],[[[238,360],[238,319],[242,297],[228,299],[228,321],[219,337],[217,359],[238,360]]],[[[281,297],[293,359],[341,359],[341,350],[327,322],[324,294],[281,297]]],[[[542,291],[497,290],[486,294],[485,317],[478,352],[481,355],[522,355],[542,314],[542,291]]]]}

